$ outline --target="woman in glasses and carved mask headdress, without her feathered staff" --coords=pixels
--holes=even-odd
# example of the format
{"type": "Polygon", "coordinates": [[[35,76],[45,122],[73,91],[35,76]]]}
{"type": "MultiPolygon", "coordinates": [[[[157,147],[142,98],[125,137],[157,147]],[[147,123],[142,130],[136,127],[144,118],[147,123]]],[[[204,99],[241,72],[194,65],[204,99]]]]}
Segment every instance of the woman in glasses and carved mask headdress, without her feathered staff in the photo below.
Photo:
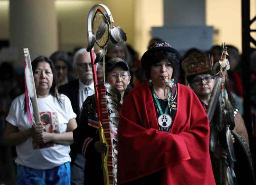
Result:
{"type": "MultiPolygon", "coordinates": [[[[209,105],[209,101],[211,99],[211,93],[213,92],[214,85],[217,80],[217,76],[214,73],[211,65],[211,59],[207,54],[194,54],[188,58],[185,58],[182,61],[182,68],[186,73],[186,79],[192,90],[198,96],[203,108],[207,112],[207,108],[209,105]]],[[[225,123],[220,123],[220,107],[217,104],[216,109],[214,111],[213,119],[210,122],[210,151],[211,163],[213,167],[214,178],[217,185],[229,184],[231,181],[237,181],[237,179],[232,177],[232,175],[227,175],[227,165],[226,162],[231,160],[231,155],[229,151],[225,148],[227,147],[225,144],[226,132],[223,125],[225,123]],[[213,144],[214,142],[214,144],[213,144]],[[228,177],[229,176],[229,177],[228,177]],[[232,177],[232,178],[230,178],[232,177]],[[228,180],[230,178],[230,180],[228,180]],[[232,179],[232,180],[231,180],[232,179]]],[[[245,124],[243,122],[242,116],[239,113],[237,108],[234,108],[234,116],[235,116],[235,128],[234,132],[239,134],[244,140],[242,142],[246,142],[249,146],[248,142],[248,134],[245,128],[245,124]]],[[[208,124],[207,122],[205,124],[208,124]]],[[[234,134],[234,133],[233,133],[234,134]]],[[[234,136],[231,134],[232,142],[235,142],[234,136]]],[[[246,146],[245,146],[246,148],[246,146]]],[[[238,160],[241,160],[241,155],[238,155],[238,160]]],[[[245,162],[246,160],[244,160],[245,162]]],[[[249,166],[249,165],[248,165],[249,166]]],[[[238,168],[238,167],[236,167],[238,168]]],[[[243,168],[245,170],[245,168],[243,168]]],[[[240,173],[240,172],[235,172],[240,173]]],[[[241,182],[241,179],[238,179],[241,182]]],[[[245,181],[243,181],[245,182],[245,181]]],[[[232,184],[232,183],[230,183],[232,184]]],[[[239,184],[239,183],[238,183],[239,184]]],[[[251,183],[249,183],[251,184],[251,183]]]]}

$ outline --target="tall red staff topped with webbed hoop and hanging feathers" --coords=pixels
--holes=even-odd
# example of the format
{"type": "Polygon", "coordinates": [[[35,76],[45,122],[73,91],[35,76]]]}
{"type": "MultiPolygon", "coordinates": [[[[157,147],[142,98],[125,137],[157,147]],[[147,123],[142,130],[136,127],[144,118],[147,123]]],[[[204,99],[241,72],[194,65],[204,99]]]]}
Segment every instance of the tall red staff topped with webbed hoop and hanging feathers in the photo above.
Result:
{"type": "Polygon", "coordinates": [[[118,44],[127,37],[120,27],[114,26],[109,8],[103,4],[94,5],[88,15],[88,47],[92,62],[93,82],[99,125],[100,142],[107,145],[106,153],[102,153],[102,167],[105,185],[117,184],[117,126],[119,121],[119,92],[105,83],[105,54],[109,39],[118,44]],[[100,51],[94,58],[94,44],[100,51]],[[95,64],[103,59],[104,83],[98,84],[95,64]]]}

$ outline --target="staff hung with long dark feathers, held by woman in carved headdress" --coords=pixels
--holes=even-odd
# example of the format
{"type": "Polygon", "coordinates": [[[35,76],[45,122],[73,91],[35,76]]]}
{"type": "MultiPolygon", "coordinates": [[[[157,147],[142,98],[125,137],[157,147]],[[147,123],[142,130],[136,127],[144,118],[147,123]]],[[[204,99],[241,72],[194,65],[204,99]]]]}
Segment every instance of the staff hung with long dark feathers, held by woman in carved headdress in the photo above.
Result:
{"type": "Polygon", "coordinates": [[[214,125],[211,125],[211,134],[210,134],[210,150],[213,152],[217,137],[224,139],[224,149],[228,153],[228,157],[225,160],[227,166],[227,178],[230,185],[234,185],[235,173],[234,173],[234,162],[235,153],[234,146],[231,139],[231,130],[235,127],[234,121],[234,108],[232,106],[232,95],[230,93],[229,80],[227,71],[230,69],[230,64],[227,59],[227,47],[225,43],[221,46],[221,58],[219,62],[214,65],[216,75],[218,79],[211,93],[210,102],[207,108],[207,116],[211,122],[213,115],[215,113],[217,103],[219,104],[219,120],[214,125]],[[225,136],[217,135],[216,133],[223,133],[225,136]]]}

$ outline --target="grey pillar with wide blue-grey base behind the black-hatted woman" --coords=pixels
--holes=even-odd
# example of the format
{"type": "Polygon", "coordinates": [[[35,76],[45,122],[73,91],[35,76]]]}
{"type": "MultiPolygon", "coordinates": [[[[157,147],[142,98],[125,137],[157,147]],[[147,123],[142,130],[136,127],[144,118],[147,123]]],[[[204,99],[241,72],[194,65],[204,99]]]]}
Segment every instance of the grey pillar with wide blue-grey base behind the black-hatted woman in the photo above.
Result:
{"type": "Polygon", "coordinates": [[[164,26],[153,27],[152,37],[169,42],[181,55],[193,47],[210,49],[213,27],[205,24],[205,0],[164,0],[163,6],[164,26]]]}

